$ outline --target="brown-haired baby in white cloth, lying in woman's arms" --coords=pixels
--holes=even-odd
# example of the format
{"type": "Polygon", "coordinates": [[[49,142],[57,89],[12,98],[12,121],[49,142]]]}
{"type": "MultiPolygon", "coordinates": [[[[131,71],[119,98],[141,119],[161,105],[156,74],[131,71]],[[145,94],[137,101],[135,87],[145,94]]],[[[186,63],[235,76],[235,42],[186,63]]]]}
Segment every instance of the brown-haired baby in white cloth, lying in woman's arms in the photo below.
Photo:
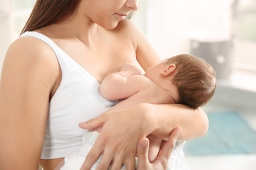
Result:
{"type": "MultiPolygon", "coordinates": [[[[140,75],[139,67],[126,63],[117,73],[112,73],[99,87],[102,97],[118,101],[110,110],[125,109],[139,103],[167,104],[179,103],[197,109],[205,105],[216,88],[216,74],[205,60],[180,54],[161,61],[140,75]]],[[[65,158],[61,169],[79,169],[100,132],[87,132],[83,136],[83,146],[79,152],[65,158]]],[[[158,156],[162,139],[148,135],[150,140],[149,159],[158,156]]],[[[96,169],[98,161],[93,166],[96,169]]],[[[125,169],[123,165],[121,169],[125,169]]]]}

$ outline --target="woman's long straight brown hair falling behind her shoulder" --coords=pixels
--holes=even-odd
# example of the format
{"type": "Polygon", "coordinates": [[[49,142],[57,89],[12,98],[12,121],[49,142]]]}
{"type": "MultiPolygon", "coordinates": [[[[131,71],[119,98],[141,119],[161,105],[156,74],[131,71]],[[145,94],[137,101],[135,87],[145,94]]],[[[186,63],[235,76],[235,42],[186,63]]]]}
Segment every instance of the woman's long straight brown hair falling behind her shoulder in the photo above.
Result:
{"type": "Polygon", "coordinates": [[[68,19],[81,0],[37,0],[22,33],[68,19]]]}

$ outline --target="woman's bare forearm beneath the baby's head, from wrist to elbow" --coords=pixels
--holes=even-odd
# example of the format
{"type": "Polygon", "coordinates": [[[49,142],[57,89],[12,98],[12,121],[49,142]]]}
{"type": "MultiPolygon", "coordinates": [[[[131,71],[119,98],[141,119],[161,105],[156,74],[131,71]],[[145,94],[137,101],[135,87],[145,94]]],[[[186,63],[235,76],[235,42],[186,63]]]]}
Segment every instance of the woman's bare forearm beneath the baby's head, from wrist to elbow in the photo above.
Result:
{"type": "Polygon", "coordinates": [[[175,127],[181,127],[179,141],[202,137],[207,133],[208,118],[202,109],[191,109],[184,105],[147,105],[154,129],[152,135],[167,139],[175,127]]]}

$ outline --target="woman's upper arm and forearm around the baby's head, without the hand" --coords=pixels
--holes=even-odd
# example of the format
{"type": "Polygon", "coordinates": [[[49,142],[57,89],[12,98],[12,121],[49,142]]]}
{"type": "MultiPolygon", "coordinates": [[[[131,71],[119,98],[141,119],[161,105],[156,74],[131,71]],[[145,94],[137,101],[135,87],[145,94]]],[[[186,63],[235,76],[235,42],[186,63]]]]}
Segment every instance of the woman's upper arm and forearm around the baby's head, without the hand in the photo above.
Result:
{"type": "MultiPolygon", "coordinates": [[[[134,24],[127,23],[132,29],[131,38],[136,48],[137,59],[144,70],[160,61],[157,52],[154,50],[146,36],[140,32],[134,24]]],[[[181,141],[205,135],[208,129],[208,118],[202,109],[191,109],[184,105],[148,105],[153,120],[156,120],[156,127],[153,135],[160,138],[169,137],[169,133],[175,127],[182,127],[179,135],[181,141]],[[163,123],[163,124],[162,124],[163,123]],[[167,129],[164,131],[163,129],[167,129]]],[[[147,107],[146,107],[147,108],[147,107]]]]}

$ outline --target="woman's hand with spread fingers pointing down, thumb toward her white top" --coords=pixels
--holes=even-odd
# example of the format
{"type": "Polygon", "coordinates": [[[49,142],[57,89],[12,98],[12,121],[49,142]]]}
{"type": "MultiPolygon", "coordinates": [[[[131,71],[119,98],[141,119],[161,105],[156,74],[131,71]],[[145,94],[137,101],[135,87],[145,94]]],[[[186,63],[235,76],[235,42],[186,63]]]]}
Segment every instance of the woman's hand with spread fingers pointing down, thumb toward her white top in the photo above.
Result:
{"type": "Polygon", "coordinates": [[[83,129],[102,126],[81,169],[91,169],[100,155],[102,160],[97,169],[108,169],[111,163],[112,169],[120,169],[123,163],[127,169],[134,169],[137,144],[142,137],[149,135],[152,126],[154,127],[148,115],[150,114],[143,110],[143,105],[137,105],[131,109],[106,112],[79,124],[83,129]]]}

